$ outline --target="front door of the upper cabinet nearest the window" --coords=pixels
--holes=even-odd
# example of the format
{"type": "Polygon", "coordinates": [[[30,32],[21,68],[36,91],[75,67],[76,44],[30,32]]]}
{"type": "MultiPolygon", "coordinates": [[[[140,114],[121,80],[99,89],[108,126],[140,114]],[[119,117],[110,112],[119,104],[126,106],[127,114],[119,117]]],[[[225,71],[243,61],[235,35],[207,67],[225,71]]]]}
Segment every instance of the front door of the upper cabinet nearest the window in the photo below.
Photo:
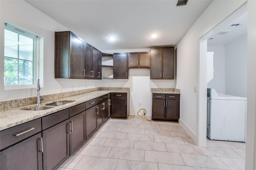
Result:
{"type": "Polygon", "coordinates": [[[84,78],[84,42],[70,32],[70,78],[84,78]]]}

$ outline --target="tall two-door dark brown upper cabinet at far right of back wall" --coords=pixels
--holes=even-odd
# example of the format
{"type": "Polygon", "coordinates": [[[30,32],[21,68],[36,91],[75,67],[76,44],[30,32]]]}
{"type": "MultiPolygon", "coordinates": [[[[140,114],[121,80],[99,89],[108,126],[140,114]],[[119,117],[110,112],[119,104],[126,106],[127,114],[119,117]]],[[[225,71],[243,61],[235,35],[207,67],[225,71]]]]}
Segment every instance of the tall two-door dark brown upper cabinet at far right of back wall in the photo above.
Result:
{"type": "Polygon", "coordinates": [[[174,47],[151,48],[150,79],[174,79],[174,47]]]}

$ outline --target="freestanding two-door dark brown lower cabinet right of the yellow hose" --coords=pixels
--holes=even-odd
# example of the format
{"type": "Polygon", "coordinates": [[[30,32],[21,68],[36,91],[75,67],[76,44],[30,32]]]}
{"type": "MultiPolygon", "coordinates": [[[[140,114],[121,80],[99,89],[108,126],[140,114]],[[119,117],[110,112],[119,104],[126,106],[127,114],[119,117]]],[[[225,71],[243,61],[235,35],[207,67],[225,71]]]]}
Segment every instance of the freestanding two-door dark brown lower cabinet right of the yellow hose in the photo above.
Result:
{"type": "Polygon", "coordinates": [[[178,121],[180,119],[179,94],[153,94],[152,120],[178,121]]]}

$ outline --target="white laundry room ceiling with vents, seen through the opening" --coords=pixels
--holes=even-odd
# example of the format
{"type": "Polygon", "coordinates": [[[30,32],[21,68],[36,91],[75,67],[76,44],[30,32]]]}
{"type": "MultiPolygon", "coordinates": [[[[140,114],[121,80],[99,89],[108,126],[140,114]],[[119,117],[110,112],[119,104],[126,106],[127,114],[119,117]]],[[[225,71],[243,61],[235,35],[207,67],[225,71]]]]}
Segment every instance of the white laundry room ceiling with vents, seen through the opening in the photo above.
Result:
{"type": "Polygon", "coordinates": [[[207,40],[207,45],[225,45],[232,42],[237,38],[247,34],[247,12],[227,24],[217,34],[211,36],[207,40]],[[238,26],[231,26],[233,24],[240,24],[238,26]],[[226,34],[220,34],[220,32],[227,32],[226,34]]]}

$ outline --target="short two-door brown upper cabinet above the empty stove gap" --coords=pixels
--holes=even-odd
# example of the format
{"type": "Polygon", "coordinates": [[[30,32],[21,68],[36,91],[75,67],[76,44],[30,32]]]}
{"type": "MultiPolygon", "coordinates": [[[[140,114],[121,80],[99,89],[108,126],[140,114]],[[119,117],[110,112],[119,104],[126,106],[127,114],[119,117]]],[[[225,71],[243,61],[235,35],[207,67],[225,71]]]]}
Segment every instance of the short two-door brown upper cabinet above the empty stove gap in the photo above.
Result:
{"type": "Polygon", "coordinates": [[[150,52],[128,53],[129,68],[150,68],[150,52]]]}

